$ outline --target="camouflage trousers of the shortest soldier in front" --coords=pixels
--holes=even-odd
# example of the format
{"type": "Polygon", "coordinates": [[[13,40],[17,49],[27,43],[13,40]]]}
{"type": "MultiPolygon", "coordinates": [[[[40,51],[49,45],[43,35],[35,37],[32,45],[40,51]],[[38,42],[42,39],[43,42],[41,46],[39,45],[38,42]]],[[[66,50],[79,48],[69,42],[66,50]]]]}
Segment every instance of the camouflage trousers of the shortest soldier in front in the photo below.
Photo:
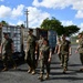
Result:
{"type": "Polygon", "coordinates": [[[44,65],[46,69],[46,73],[50,73],[50,62],[44,61],[43,59],[40,60],[40,73],[44,73],[44,65]]]}

